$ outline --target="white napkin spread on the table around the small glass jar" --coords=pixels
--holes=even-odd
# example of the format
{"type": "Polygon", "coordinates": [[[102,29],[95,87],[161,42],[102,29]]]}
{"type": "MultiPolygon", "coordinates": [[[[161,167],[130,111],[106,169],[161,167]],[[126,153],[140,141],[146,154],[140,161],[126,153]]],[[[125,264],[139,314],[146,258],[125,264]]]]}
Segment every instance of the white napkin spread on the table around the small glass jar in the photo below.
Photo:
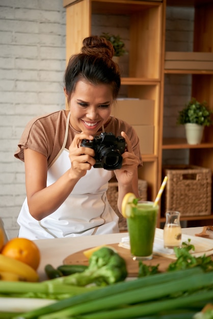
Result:
{"type": "MultiPolygon", "coordinates": [[[[173,249],[164,248],[163,232],[164,232],[163,229],[160,229],[160,228],[155,229],[153,254],[176,259],[173,249]]],[[[213,242],[210,241],[208,238],[182,234],[182,239],[181,239],[182,242],[188,242],[188,239],[191,240],[190,244],[195,246],[195,250],[191,252],[193,256],[199,257],[204,254],[206,256],[213,254],[213,242]]],[[[125,236],[121,238],[121,242],[119,243],[119,246],[130,249],[129,236],[125,236]]]]}

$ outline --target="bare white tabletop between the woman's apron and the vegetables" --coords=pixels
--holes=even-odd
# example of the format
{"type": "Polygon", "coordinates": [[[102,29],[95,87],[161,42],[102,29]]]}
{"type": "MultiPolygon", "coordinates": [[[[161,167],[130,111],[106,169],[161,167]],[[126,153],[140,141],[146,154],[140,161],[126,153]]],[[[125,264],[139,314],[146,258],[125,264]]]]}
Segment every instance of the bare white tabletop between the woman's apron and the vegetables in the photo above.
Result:
{"type": "MultiPolygon", "coordinates": [[[[201,232],[202,227],[182,228],[183,234],[195,235],[201,232]]],[[[44,267],[50,263],[54,267],[58,267],[63,263],[63,260],[70,254],[80,250],[89,249],[98,245],[109,245],[119,243],[121,238],[128,233],[116,233],[107,235],[94,236],[78,236],[66,238],[53,238],[45,240],[36,240],[35,243],[41,252],[41,262],[38,268],[40,280],[45,280],[44,267]]]]}

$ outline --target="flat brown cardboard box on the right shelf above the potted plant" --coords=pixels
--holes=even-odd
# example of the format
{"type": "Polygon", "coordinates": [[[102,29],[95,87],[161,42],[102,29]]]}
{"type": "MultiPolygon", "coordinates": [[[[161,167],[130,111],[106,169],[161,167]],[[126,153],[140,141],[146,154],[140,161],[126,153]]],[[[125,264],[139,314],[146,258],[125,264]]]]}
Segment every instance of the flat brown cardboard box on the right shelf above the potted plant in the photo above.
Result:
{"type": "Polygon", "coordinates": [[[212,52],[165,52],[165,69],[213,70],[212,52]]]}

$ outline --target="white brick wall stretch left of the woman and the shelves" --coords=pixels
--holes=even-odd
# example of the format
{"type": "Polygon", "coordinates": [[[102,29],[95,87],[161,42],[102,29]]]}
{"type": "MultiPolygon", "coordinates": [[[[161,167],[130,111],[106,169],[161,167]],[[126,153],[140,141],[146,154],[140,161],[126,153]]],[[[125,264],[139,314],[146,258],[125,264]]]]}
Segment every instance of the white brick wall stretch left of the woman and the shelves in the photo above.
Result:
{"type": "Polygon", "coordinates": [[[65,33],[62,0],[0,2],[0,217],[10,238],[25,198],[13,153],[31,118],[64,108],[65,33]]]}

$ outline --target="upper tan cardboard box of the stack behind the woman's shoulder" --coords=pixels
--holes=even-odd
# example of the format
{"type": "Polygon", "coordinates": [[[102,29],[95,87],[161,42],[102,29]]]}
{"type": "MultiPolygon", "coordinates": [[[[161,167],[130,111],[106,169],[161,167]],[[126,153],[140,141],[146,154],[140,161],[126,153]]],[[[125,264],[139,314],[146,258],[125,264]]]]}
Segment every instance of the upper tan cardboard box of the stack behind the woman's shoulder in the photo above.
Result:
{"type": "Polygon", "coordinates": [[[154,100],[118,99],[112,115],[130,125],[153,125],[154,100]]]}

